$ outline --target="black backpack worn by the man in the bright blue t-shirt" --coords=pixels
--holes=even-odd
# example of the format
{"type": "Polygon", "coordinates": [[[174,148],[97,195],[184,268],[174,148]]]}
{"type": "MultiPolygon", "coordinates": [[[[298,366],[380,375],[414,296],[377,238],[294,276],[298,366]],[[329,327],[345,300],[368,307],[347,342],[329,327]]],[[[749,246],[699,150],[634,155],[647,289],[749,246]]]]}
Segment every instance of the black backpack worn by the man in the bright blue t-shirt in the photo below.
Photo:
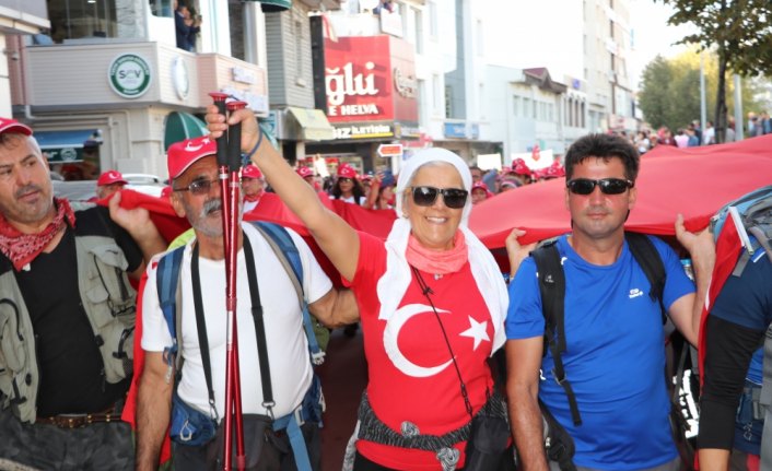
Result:
{"type": "MultiPolygon", "coordinates": [[[[667,309],[665,309],[662,299],[665,291],[666,273],[662,257],[654,246],[654,243],[645,234],[625,232],[624,238],[628,242],[630,254],[641,267],[651,284],[648,296],[652,301],[659,302],[663,325],[666,325],[668,322],[667,309]]],[[[563,264],[560,252],[558,251],[557,242],[558,239],[555,238],[545,243],[542,246],[531,251],[530,256],[536,262],[542,314],[545,316],[545,354],[547,354],[547,349],[552,353],[554,361],[552,374],[558,384],[565,391],[571,410],[571,417],[574,425],[578,426],[582,425],[582,416],[580,414],[578,404],[576,403],[576,396],[571,387],[571,382],[566,378],[562,361],[562,353],[566,350],[564,330],[565,274],[563,273],[563,264]]],[[[683,377],[688,349],[689,344],[685,341],[683,345],[681,345],[680,355],[678,356],[677,372],[674,373],[677,377],[677,381],[671,397],[672,407],[670,413],[674,438],[679,448],[679,452],[686,455],[685,458],[687,459],[685,459],[685,463],[692,462],[692,460],[689,459],[689,455],[693,455],[693,449],[686,438],[688,424],[678,408],[677,398],[681,388],[680,382],[683,377]]],[[[670,377],[672,375],[667,369],[665,374],[668,377],[667,384],[671,385],[670,377]]],[[[547,407],[543,405],[541,401],[539,402],[549,433],[546,446],[548,457],[553,461],[558,461],[561,470],[575,469],[571,461],[574,449],[571,438],[563,427],[551,416],[547,407]]]]}

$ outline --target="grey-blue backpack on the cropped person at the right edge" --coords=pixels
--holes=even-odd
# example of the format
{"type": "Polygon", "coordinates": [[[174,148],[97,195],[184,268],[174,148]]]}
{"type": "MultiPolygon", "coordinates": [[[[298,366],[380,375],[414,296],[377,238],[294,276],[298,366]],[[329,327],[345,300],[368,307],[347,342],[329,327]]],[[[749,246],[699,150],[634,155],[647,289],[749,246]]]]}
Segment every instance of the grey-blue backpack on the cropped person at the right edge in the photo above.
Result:
{"type": "Polygon", "coordinates": [[[711,232],[715,239],[724,228],[727,217],[735,220],[737,233],[745,248],[732,272],[733,275],[739,276],[742,273],[748,260],[759,247],[764,248],[772,261],[772,185],[744,195],[718,210],[711,217],[711,232]],[[749,235],[753,236],[753,239],[749,235]]]}

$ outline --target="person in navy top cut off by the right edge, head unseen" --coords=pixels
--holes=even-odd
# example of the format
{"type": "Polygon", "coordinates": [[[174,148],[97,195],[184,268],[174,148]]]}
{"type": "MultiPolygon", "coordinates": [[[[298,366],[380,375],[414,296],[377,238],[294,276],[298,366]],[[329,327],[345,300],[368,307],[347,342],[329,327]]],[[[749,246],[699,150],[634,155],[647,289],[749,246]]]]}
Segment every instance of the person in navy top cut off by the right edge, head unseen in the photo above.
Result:
{"type": "Polygon", "coordinates": [[[763,428],[759,345],[770,323],[772,262],[760,249],[739,276],[726,280],[706,319],[698,438],[702,470],[726,470],[727,463],[733,471],[759,469],[763,428]]]}

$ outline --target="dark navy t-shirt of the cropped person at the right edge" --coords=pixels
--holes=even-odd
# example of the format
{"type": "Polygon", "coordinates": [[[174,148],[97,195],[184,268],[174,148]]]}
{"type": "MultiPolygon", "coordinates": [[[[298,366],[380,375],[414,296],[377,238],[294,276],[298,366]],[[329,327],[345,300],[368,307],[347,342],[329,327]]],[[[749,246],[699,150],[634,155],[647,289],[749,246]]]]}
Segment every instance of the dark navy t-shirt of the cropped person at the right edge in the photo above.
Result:
{"type": "MultiPolygon", "coordinates": [[[[772,263],[763,248],[748,260],[740,276],[729,276],[716,297],[711,316],[748,329],[767,330],[772,322],[772,263]]],[[[753,353],[748,379],[761,384],[763,349],[753,353]]]]}

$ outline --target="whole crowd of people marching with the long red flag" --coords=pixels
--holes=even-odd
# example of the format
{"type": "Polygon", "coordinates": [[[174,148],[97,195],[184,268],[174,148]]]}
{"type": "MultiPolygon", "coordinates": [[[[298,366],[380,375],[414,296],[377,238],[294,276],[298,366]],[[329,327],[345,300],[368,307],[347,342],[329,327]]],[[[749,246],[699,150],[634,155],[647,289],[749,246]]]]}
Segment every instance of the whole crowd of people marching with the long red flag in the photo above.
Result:
{"type": "Polygon", "coordinates": [[[33,130],[0,118],[0,468],[155,470],[169,431],[176,469],[222,468],[222,421],[231,412],[221,387],[226,262],[210,138],[235,123],[252,161],[242,169],[244,209],[259,205],[270,185],[342,282],[328,278],[295,232],[282,229],[282,246],[267,226],[241,223],[233,269],[246,469],[319,470],[324,398],[306,305],[330,328],[359,321],[364,337],[369,382],[344,470],[688,468],[663,374],[666,317],[689,343],[703,334],[710,345],[701,469],[756,471],[772,449],[755,414],[763,398],[744,393],[752,386],[746,381],[772,381],[758,351],[772,322],[772,256],[760,248],[745,260],[701,327],[714,237],[687,231],[681,216],[674,221],[681,254],[624,232],[641,153],[628,139],[586,136],[564,167],[538,172],[515,161],[484,173],[432,148],[398,176],[340,165],[327,193],[311,168],[291,167],[264,139],[252,111],[225,122],[211,106],[207,122],[210,137],[167,153],[166,198],[191,226],[167,250],[147,210],[121,207],[119,173],[100,178],[100,204],[70,204],[52,195],[33,130]],[[561,177],[572,229],[537,247],[520,245],[523,232],[513,228],[507,286],[468,227],[472,205],[561,177]],[[388,236],[354,229],[320,193],[394,211],[388,236]],[[498,351],[504,369],[490,361],[498,351]],[[134,436],[119,417],[136,356],[134,436]],[[746,396],[752,420],[741,421],[746,396]]]}

